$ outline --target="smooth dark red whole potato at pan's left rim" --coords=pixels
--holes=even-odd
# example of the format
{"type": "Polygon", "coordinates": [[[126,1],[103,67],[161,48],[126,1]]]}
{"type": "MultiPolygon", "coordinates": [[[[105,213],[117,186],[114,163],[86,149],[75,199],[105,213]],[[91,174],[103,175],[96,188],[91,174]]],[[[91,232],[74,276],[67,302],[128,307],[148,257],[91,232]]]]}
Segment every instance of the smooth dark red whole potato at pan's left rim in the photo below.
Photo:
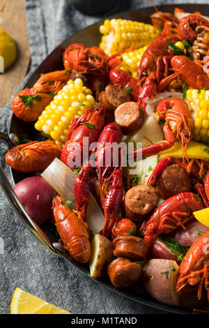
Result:
{"type": "Polygon", "coordinates": [[[54,188],[42,177],[24,179],[14,188],[15,194],[36,222],[42,224],[52,212],[54,188]]]}

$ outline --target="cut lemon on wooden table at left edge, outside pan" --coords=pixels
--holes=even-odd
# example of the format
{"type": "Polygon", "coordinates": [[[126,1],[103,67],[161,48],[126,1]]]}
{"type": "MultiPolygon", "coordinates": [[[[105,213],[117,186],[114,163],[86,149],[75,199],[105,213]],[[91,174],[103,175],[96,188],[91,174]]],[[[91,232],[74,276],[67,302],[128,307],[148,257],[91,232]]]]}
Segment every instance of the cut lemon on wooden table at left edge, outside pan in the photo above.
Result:
{"type": "Polygon", "coordinates": [[[17,49],[13,39],[0,29],[0,56],[4,60],[4,69],[8,68],[17,57],[17,49]]]}

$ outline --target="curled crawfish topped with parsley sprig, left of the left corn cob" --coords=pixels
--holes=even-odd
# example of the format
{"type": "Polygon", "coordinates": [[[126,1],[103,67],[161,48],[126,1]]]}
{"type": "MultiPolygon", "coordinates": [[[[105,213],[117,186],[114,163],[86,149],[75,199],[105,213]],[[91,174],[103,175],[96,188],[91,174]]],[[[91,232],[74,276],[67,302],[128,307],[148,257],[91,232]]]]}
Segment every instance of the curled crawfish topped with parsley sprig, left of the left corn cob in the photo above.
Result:
{"type": "Polygon", "coordinates": [[[22,121],[36,121],[42,111],[68,82],[65,70],[42,74],[31,89],[20,91],[13,99],[13,112],[22,121]]]}

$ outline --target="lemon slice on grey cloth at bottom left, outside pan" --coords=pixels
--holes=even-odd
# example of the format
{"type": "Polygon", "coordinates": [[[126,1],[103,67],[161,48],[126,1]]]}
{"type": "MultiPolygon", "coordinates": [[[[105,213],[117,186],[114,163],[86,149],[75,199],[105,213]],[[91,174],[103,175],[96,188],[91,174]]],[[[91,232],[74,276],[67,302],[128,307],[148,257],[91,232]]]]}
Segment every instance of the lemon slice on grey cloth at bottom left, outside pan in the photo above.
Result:
{"type": "Polygon", "coordinates": [[[20,288],[16,288],[12,303],[11,314],[71,314],[53,304],[43,301],[20,288]]]}

